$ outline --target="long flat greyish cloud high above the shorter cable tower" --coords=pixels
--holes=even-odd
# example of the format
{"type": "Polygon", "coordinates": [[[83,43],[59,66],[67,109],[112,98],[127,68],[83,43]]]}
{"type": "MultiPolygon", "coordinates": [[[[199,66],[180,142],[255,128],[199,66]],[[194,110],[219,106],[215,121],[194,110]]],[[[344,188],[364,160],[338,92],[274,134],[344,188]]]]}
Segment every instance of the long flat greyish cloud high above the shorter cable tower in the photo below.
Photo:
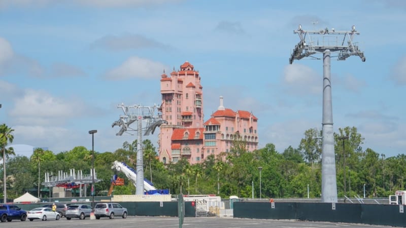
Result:
{"type": "Polygon", "coordinates": [[[91,44],[91,48],[105,48],[111,51],[122,51],[140,48],[170,49],[170,46],[149,39],[140,34],[106,35],[91,44]]]}

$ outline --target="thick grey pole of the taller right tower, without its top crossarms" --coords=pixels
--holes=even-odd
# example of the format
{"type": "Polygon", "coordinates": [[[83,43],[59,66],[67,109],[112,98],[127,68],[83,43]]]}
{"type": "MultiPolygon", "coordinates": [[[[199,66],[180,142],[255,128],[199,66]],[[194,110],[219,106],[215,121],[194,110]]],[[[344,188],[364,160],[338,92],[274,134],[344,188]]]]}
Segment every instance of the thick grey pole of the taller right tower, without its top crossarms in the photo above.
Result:
{"type": "Polygon", "coordinates": [[[330,68],[330,50],[326,49],[323,52],[323,122],[321,164],[321,202],[323,203],[337,202],[330,68]]]}

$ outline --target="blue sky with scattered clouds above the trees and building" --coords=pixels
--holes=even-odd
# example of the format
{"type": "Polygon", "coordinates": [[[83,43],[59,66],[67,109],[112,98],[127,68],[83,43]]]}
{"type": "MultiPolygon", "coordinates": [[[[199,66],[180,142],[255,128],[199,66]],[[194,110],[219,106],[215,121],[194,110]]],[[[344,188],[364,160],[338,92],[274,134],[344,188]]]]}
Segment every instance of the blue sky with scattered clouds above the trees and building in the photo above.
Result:
{"type": "Polygon", "coordinates": [[[223,96],[258,117],[260,147],[282,153],[322,119],[322,61],[289,65],[293,30],[355,25],[366,62],[331,60],[334,131],[355,126],[363,149],[396,156],[406,150],[405,15],[402,0],[0,0],[0,122],[14,144],[91,149],[97,129],[94,149],[114,151],[137,138],[115,135],[117,104],[159,104],[163,69],[189,61],[205,120],[223,96]]]}

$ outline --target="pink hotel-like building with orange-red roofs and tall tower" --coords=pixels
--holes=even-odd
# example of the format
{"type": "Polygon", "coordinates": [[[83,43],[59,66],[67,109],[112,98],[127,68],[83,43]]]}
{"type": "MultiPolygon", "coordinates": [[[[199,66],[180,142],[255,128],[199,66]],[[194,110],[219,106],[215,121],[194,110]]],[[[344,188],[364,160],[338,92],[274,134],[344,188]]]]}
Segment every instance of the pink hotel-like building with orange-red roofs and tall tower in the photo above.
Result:
{"type": "Polygon", "coordinates": [[[189,62],[172,71],[171,77],[161,75],[162,118],[158,139],[159,160],[164,164],[178,162],[182,157],[191,164],[207,156],[228,152],[232,141],[240,135],[252,151],[258,147],[258,119],[248,111],[220,106],[204,121],[202,86],[199,72],[189,62]]]}

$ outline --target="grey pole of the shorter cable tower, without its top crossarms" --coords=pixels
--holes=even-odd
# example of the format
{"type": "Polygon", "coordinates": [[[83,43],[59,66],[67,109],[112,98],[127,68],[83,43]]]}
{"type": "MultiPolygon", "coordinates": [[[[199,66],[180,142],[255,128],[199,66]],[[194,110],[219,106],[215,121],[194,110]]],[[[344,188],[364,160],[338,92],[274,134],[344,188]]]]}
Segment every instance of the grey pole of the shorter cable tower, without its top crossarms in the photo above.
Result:
{"type": "Polygon", "coordinates": [[[144,168],[143,168],[143,132],[142,132],[143,118],[138,116],[138,140],[137,140],[137,181],[136,181],[136,195],[144,195],[144,168]]]}

